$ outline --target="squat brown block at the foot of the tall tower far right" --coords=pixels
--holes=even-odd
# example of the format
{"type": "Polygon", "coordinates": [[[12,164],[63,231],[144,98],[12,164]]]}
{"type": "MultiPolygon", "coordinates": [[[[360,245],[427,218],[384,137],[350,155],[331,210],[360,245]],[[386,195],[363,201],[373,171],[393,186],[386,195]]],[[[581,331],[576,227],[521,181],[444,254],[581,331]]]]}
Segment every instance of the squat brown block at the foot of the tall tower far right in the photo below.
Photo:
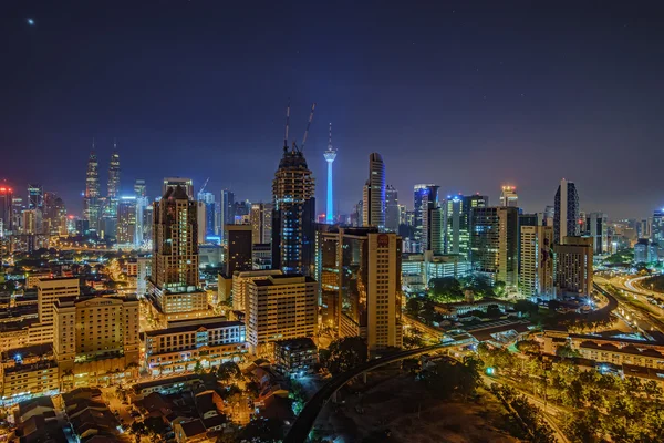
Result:
{"type": "Polygon", "coordinates": [[[592,293],[592,238],[562,237],[553,246],[556,254],[556,291],[558,295],[592,293]]]}

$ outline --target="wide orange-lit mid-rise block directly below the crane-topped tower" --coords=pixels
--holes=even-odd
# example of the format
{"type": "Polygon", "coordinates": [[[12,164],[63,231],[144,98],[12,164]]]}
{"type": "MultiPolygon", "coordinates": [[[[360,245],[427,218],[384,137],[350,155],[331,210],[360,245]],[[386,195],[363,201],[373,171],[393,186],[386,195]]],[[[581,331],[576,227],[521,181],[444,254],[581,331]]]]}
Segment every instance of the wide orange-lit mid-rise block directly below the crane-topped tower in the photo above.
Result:
{"type": "Polygon", "coordinates": [[[257,354],[277,340],[313,337],[318,327],[318,284],[302,275],[272,275],[247,282],[247,341],[257,354]]]}

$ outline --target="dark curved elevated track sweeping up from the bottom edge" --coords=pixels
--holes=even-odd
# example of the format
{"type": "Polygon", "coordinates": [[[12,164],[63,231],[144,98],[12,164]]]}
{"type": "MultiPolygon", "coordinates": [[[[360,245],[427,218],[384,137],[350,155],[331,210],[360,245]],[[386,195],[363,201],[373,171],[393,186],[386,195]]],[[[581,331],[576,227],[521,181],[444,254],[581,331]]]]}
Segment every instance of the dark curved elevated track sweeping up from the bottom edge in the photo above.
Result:
{"type": "Polygon", "coordinates": [[[371,360],[364,364],[359,365],[357,368],[352,369],[351,371],[341,373],[325,383],[321,389],[318,390],[315,394],[307,402],[298,419],[293,423],[293,426],[286,435],[283,443],[304,443],[311,429],[313,427],[313,423],[318,418],[318,414],[321,412],[321,409],[328,403],[328,400],[340,390],[344,384],[354,379],[357,375],[361,375],[363,372],[374,370],[384,364],[392,363],[398,360],[407,359],[408,357],[415,357],[421,353],[426,353],[430,351],[435,351],[442,348],[446,348],[446,344],[434,344],[426,348],[412,349],[408,351],[397,352],[392,356],[383,357],[382,359],[371,360]]]}

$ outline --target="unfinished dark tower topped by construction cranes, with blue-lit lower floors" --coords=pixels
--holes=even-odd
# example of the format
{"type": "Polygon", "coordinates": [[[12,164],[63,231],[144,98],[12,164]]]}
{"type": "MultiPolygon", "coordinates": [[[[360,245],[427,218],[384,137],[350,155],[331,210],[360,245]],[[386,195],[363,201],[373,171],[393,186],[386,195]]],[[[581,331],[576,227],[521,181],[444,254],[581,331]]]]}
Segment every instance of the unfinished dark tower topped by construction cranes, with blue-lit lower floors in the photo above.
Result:
{"type": "Polygon", "coordinates": [[[304,154],[283,147],[272,182],[272,266],[284,274],[312,274],[315,198],[314,181],[304,154]]]}

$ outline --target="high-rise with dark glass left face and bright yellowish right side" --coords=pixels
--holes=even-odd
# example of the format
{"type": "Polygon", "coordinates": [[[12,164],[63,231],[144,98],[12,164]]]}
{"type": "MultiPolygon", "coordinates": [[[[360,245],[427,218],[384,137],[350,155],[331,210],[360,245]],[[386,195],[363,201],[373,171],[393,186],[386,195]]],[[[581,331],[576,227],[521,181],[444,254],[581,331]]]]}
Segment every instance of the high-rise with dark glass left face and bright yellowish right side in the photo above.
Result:
{"type": "Polygon", "coordinates": [[[516,207],[476,207],[471,212],[470,258],[474,270],[491,282],[516,288],[519,212],[516,207]]]}

